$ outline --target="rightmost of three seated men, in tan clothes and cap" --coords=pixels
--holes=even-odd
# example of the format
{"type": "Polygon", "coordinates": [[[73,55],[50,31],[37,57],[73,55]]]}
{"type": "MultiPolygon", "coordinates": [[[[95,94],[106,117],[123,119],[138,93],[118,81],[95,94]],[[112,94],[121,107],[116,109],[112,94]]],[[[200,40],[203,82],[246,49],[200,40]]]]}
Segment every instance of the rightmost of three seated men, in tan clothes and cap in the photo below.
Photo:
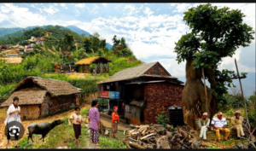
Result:
{"type": "Polygon", "coordinates": [[[232,129],[236,130],[237,132],[237,139],[245,138],[241,123],[242,123],[243,117],[240,115],[240,110],[237,110],[235,113],[235,116],[231,118],[231,125],[233,125],[232,129]]]}

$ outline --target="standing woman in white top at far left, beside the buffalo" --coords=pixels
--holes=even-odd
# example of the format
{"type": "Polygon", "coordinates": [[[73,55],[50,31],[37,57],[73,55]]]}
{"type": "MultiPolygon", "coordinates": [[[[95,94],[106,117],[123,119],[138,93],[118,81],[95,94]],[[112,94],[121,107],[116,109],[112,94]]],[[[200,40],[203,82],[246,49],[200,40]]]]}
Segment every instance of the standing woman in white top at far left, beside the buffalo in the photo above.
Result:
{"type": "MultiPolygon", "coordinates": [[[[17,121],[17,122],[20,122],[21,123],[21,120],[20,120],[20,107],[18,106],[18,103],[19,103],[19,98],[17,96],[15,96],[13,98],[13,104],[9,106],[8,108],[8,111],[7,111],[7,119],[4,120],[4,124],[5,125],[8,125],[9,122],[12,122],[12,121],[17,121]]],[[[8,128],[8,126],[5,126],[6,128],[8,128]]],[[[10,133],[11,131],[8,131],[8,134],[7,134],[7,148],[10,148],[10,144],[9,144],[9,140],[10,140],[10,133]]],[[[20,145],[18,145],[18,139],[19,139],[19,136],[15,135],[15,148],[20,148],[20,145]]]]}

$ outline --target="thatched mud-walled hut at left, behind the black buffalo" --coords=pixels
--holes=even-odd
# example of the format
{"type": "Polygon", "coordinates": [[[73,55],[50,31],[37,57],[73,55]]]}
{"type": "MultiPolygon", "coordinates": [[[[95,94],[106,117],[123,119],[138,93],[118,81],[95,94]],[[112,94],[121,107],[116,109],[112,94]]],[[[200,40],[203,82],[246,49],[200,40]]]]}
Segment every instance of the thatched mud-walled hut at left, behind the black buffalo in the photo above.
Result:
{"type": "Polygon", "coordinates": [[[15,96],[19,97],[20,118],[38,119],[68,107],[79,105],[81,89],[65,81],[26,77],[11,92],[1,107],[8,109],[15,96]]]}

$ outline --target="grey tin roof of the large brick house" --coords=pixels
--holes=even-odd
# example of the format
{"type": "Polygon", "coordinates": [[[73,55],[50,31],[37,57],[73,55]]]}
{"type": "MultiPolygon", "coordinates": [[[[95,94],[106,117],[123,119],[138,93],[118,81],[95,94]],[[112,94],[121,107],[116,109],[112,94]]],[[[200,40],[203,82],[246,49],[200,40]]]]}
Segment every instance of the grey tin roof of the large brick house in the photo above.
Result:
{"type": "MultiPolygon", "coordinates": [[[[119,71],[118,73],[113,74],[112,78],[110,78],[110,79],[108,79],[108,80],[106,80],[104,82],[101,82],[99,84],[115,82],[115,81],[121,81],[121,80],[127,80],[127,79],[132,79],[132,78],[143,77],[143,76],[146,76],[146,77],[159,77],[159,78],[173,78],[173,79],[177,80],[176,77],[172,77],[172,75],[166,71],[165,67],[162,67],[162,68],[166,71],[166,73],[169,74],[168,76],[156,75],[156,74],[155,75],[144,74],[151,67],[154,67],[154,65],[157,64],[157,63],[160,65],[160,67],[162,67],[161,64],[158,61],[152,62],[152,63],[148,63],[148,64],[143,64],[143,65],[140,65],[140,66],[137,66],[137,67],[129,67],[129,68],[126,68],[124,70],[119,71]]],[[[181,82],[181,83],[183,83],[183,82],[181,82]]]]}

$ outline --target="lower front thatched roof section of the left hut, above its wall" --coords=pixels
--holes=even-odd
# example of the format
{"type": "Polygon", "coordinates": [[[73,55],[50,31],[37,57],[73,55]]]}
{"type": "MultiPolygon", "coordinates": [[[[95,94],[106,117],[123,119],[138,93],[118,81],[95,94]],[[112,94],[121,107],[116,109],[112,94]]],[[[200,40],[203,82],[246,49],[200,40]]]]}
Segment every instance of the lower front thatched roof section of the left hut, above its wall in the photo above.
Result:
{"type": "Polygon", "coordinates": [[[19,105],[32,105],[41,104],[44,102],[44,96],[47,90],[42,90],[40,88],[26,88],[22,90],[15,91],[9,98],[3,102],[1,107],[8,107],[13,103],[13,98],[15,96],[19,97],[19,105]]]}

